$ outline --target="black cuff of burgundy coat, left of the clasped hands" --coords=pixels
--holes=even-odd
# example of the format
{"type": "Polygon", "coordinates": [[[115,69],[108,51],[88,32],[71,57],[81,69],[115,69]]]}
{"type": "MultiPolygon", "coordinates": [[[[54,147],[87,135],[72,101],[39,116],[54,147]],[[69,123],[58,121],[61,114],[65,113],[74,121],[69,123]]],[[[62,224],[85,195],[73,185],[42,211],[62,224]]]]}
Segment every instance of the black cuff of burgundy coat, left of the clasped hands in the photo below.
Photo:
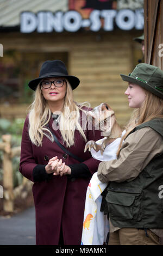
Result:
{"type": "Polygon", "coordinates": [[[52,178],[53,173],[48,174],[45,170],[46,165],[37,164],[33,169],[33,179],[36,181],[49,180],[52,178]]]}

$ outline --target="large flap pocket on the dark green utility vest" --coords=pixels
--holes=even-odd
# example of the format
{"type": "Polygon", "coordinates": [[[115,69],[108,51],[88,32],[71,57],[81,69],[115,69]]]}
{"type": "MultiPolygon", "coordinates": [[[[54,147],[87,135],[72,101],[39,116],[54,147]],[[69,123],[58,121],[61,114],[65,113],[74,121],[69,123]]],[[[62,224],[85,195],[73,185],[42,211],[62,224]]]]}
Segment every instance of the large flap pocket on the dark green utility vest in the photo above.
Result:
{"type": "Polygon", "coordinates": [[[129,194],[108,191],[106,202],[111,218],[116,220],[140,221],[142,218],[141,193],[129,194]]]}

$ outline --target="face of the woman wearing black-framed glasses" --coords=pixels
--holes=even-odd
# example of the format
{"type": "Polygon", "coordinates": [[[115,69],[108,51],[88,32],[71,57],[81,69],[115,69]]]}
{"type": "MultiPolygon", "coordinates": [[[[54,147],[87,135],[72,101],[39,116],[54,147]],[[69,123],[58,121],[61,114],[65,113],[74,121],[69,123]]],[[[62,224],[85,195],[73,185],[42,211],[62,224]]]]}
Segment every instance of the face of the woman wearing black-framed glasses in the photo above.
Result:
{"type": "Polygon", "coordinates": [[[64,101],[66,80],[64,77],[49,77],[41,81],[42,94],[47,101],[64,101]]]}

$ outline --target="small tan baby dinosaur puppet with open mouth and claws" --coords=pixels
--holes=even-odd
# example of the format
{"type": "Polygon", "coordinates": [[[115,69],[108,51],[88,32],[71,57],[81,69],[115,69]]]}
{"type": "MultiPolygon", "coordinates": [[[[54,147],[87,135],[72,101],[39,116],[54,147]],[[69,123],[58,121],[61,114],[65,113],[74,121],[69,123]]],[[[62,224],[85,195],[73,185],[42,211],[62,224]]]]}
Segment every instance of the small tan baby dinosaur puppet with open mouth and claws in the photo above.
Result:
{"type": "Polygon", "coordinates": [[[93,148],[96,152],[101,150],[101,154],[103,155],[106,146],[116,138],[121,137],[121,127],[116,121],[114,111],[107,103],[101,103],[91,111],[88,111],[87,116],[92,120],[92,124],[95,129],[97,130],[97,127],[99,127],[99,130],[102,132],[102,136],[106,136],[106,138],[101,145],[98,145],[95,141],[87,142],[84,152],[86,152],[87,149],[90,151],[91,148],[93,148]]]}

